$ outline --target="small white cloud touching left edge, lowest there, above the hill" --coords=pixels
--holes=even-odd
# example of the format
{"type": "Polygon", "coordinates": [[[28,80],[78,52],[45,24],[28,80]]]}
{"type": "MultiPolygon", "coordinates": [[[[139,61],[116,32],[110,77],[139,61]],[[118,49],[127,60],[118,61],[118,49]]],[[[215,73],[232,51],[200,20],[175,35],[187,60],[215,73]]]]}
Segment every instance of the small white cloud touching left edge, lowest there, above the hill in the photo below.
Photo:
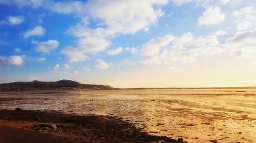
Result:
{"type": "Polygon", "coordinates": [[[11,55],[9,57],[0,56],[0,63],[20,66],[23,64],[23,56],[19,56],[19,55],[11,55]]]}

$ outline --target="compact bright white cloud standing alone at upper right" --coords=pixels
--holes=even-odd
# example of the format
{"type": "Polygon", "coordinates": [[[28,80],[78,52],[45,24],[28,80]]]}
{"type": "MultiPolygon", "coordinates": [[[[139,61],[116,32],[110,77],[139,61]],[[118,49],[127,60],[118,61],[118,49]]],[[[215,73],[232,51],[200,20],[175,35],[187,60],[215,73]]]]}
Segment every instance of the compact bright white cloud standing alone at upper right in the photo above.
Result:
{"type": "Polygon", "coordinates": [[[203,15],[198,19],[198,25],[214,25],[225,20],[226,16],[221,12],[220,7],[209,8],[204,11],[203,15]]]}

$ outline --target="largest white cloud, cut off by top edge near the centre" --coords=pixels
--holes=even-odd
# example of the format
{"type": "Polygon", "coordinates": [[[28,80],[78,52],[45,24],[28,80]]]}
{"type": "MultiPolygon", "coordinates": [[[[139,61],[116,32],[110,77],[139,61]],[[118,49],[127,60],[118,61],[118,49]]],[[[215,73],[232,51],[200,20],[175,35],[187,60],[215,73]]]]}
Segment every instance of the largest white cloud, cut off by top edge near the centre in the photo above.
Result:
{"type": "MultiPolygon", "coordinates": [[[[73,9],[80,9],[79,14],[90,14],[91,19],[101,19],[100,25],[92,29],[87,25],[77,24],[69,32],[75,36],[113,37],[115,34],[134,34],[139,30],[155,25],[157,18],[163,16],[159,9],[167,0],[152,1],[88,1],[73,9]],[[158,6],[158,7],[155,7],[158,6]],[[104,26],[103,26],[104,25],[104,26]],[[104,28],[103,28],[104,27],[104,28]]],[[[69,6],[69,5],[66,5],[69,6]]],[[[63,8],[63,7],[62,7],[63,8]]],[[[77,13],[77,11],[69,12],[77,13]]],[[[84,17],[82,17],[84,18],[84,17]]]]}

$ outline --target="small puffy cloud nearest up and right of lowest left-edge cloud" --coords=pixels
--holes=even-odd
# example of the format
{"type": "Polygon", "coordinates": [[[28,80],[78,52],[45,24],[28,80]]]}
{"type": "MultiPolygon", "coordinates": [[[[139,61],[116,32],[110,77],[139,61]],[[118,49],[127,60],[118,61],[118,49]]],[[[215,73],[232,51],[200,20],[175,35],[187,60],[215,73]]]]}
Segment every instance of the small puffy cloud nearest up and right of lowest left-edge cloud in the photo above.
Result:
{"type": "Polygon", "coordinates": [[[45,52],[45,53],[50,53],[51,50],[54,50],[59,46],[59,42],[56,40],[48,40],[45,42],[37,42],[35,40],[32,40],[31,43],[37,45],[36,47],[37,52],[45,52]]]}

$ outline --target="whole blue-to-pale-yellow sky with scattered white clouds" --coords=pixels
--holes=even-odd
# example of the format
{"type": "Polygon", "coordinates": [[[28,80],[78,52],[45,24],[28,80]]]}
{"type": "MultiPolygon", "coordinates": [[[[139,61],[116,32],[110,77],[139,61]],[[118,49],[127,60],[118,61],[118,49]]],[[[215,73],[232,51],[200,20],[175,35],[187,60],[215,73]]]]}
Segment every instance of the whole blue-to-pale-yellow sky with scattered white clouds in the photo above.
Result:
{"type": "Polygon", "coordinates": [[[256,1],[0,0],[0,83],[256,85],[256,1]]]}

